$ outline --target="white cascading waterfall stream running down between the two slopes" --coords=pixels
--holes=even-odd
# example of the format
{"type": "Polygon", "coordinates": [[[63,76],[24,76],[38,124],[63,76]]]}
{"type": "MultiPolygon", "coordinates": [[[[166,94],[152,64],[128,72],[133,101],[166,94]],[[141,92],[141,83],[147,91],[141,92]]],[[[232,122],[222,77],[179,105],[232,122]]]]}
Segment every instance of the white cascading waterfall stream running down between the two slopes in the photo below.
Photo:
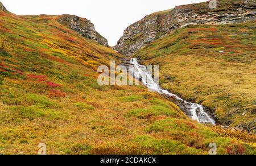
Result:
{"type": "Polygon", "coordinates": [[[152,92],[158,92],[160,94],[163,94],[168,97],[173,97],[176,99],[176,101],[179,103],[179,106],[181,107],[181,110],[184,110],[184,112],[193,120],[196,120],[200,123],[211,123],[216,124],[213,118],[211,118],[207,112],[205,111],[204,106],[199,105],[197,103],[191,103],[187,102],[184,99],[178,97],[175,94],[172,94],[168,92],[167,90],[162,89],[154,79],[151,77],[151,74],[149,74],[146,70],[146,67],[143,65],[140,65],[138,63],[137,59],[131,59],[130,64],[133,65],[133,74],[134,77],[137,79],[140,79],[142,83],[147,86],[148,89],[150,89],[152,92]],[[143,77],[141,77],[143,76],[143,77]]]}

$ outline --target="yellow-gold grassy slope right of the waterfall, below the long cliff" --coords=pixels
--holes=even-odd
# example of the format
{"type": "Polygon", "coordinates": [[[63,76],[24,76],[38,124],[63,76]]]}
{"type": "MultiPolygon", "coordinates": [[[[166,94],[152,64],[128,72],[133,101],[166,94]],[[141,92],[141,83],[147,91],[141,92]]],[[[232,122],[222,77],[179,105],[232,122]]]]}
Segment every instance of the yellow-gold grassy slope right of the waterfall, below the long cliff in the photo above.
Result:
{"type": "Polygon", "coordinates": [[[135,56],[160,65],[160,83],[256,132],[256,23],[181,28],[135,56]]]}

